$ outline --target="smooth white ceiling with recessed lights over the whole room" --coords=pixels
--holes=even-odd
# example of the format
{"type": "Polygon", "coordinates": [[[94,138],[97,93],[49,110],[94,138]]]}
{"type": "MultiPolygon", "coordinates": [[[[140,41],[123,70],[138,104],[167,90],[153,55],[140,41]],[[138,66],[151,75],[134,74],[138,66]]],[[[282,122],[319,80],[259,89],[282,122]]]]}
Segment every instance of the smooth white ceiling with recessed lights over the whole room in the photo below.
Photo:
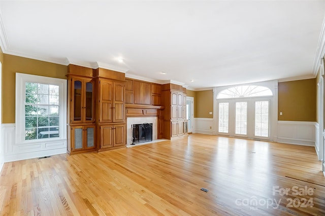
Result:
{"type": "Polygon", "coordinates": [[[325,1],[1,1],[0,12],[4,53],[199,90],[314,78],[325,1]]]}

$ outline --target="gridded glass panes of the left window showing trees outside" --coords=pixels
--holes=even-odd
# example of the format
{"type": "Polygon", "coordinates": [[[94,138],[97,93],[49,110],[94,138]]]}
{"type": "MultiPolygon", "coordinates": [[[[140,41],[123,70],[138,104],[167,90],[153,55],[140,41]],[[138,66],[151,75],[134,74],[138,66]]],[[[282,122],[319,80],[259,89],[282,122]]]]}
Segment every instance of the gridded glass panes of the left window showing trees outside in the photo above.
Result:
{"type": "Polygon", "coordinates": [[[59,86],[25,83],[25,140],[59,137],[59,86]]]}

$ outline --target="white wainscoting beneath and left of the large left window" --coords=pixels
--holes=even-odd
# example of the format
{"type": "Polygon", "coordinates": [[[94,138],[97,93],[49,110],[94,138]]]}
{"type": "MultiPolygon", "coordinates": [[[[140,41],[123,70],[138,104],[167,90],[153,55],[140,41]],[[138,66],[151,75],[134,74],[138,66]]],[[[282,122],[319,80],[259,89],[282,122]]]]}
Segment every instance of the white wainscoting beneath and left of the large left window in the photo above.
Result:
{"type": "Polygon", "coordinates": [[[2,124],[4,162],[67,153],[67,139],[15,143],[15,124],[2,124]]]}

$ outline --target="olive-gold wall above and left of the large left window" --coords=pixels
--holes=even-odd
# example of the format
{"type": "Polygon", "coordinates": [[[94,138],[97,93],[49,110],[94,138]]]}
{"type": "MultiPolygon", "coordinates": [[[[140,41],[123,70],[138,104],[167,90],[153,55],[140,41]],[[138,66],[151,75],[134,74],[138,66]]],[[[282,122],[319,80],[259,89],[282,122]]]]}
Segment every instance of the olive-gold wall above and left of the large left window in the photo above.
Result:
{"type": "Polygon", "coordinates": [[[67,79],[68,66],[3,54],[2,122],[15,123],[16,72],[44,77],[67,79]]]}

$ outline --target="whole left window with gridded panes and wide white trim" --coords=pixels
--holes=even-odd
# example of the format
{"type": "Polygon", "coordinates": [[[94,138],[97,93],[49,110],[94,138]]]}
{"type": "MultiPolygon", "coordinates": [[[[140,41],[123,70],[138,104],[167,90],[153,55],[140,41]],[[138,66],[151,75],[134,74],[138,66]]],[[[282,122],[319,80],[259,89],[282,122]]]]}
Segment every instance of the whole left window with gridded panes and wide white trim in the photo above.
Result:
{"type": "Polygon", "coordinates": [[[17,142],[66,138],[67,80],[16,73],[17,142]]]}

